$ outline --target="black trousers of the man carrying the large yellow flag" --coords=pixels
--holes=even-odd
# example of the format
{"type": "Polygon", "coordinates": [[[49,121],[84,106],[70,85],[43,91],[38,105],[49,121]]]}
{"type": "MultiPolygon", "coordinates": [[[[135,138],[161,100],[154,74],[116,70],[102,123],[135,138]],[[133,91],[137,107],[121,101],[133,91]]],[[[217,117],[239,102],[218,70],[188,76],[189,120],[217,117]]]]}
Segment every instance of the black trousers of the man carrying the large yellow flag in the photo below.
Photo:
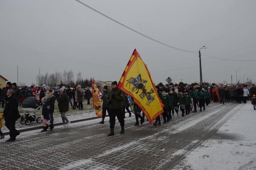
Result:
{"type": "Polygon", "coordinates": [[[118,108],[118,109],[110,109],[109,108],[109,112],[108,115],[110,117],[110,128],[114,128],[115,124],[116,124],[116,116],[117,119],[120,123],[121,127],[124,127],[124,113],[122,108],[118,108]]]}

